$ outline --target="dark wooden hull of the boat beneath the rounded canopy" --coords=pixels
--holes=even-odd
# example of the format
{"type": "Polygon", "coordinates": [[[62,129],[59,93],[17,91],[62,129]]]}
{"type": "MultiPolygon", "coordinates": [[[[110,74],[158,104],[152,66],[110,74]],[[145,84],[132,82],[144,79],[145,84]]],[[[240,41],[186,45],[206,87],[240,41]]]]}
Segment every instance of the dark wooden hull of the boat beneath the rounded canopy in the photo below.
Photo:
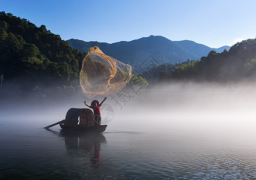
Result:
{"type": "Polygon", "coordinates": [[[62,128],[62,130],[66,131],[73,131],[77,133],[103,133],[106,130],[106,127],[108,125],[95,125],[91,127],[76,125],[76,126],[70,126],[64,124],[65,119],[62,121],[59,121],[59,126],[62,128]]]}

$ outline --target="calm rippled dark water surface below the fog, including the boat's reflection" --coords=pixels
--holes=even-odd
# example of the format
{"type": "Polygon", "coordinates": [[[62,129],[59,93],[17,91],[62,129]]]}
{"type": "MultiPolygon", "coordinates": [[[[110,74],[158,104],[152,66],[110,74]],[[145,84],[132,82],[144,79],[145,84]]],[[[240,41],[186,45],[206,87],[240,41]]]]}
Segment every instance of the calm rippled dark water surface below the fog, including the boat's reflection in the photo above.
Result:
{"type": "Polygon", "coordinates": [[[256,179],[251,127],[109,128],[0,126],[0,179],[256,179]]]}

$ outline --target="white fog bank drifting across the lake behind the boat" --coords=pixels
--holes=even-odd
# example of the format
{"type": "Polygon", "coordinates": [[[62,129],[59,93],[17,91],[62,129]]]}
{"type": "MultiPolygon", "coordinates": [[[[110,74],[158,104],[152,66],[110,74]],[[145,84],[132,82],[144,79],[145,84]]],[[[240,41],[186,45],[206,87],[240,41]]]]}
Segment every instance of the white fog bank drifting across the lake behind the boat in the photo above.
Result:
{"type": "MultiPolygon", "coordinates": [[[[139,96],[130,97],[120,108],[111,96],[105,101],[114,110],[107,130],[154,130],[169,128],[255,128],[256,83],[171,83],[148,90],[141,90],[139,96]]],[[[103,97],[96,97],[102,101],[103,97]]],[[[72,107],[87,108],[87,97],[69,98],[61,103],[50,102],[26,106],[17,100],[0,109],[0,125],[15,127],[44,127],[61,121],[72,107]]],[[[121,103],[121,102],[120,102],[121,103]]],[[[109,116],[102,109],[102,119],[109,116]]],[[[59,127],[58,127],[59,128],[59,127]]]]}

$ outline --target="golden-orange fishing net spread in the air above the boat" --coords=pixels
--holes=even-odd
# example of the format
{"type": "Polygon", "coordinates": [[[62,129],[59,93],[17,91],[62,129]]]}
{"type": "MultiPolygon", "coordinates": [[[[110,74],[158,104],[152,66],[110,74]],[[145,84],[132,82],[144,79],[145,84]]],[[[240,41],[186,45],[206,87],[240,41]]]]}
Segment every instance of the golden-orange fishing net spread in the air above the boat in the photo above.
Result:
{"type": "Polygon", "coordinates": [[[124,88],[132,77],[132,67],[111,56],[105,55],[99,47],[91,47],[82,62],[80,84],[84,95],[115,94],[124,88]]]}

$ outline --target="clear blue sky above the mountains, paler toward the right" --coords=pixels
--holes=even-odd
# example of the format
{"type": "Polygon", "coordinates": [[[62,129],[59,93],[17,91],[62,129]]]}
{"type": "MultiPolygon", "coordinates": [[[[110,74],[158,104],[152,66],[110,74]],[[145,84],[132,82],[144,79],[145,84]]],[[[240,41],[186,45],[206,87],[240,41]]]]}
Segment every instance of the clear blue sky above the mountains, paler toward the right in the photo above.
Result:
{"type": "Polygon", "coordinates": [[[0,0],[0,10],[63,40],[114,43],[149,35],[232,46],[256,37],[254,0],[0,0]]]}

